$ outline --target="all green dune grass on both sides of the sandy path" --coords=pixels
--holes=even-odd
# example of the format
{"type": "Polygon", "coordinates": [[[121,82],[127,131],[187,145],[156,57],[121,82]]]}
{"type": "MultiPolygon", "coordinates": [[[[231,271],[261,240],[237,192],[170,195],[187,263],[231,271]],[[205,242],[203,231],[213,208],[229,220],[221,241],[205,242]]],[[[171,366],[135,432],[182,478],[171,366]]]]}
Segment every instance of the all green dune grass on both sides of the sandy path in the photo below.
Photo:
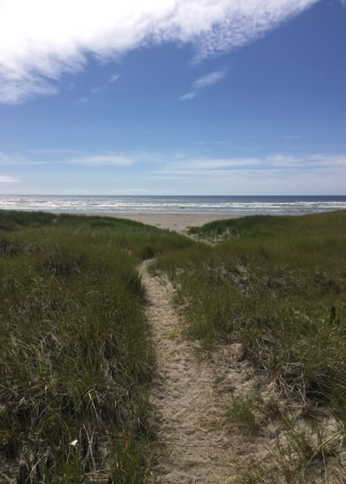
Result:
{"type": "MultiPolygon", "coordinates": [[[[155,356],[136,271],[145,258],[172,278],[186,337],[206,348],[241,342],[282,397],[309,416],[327,406],[346,437],[346,213],[244,217],[190,235],[200,242],[110,217],[0,213],[3,476],[147,481],[155,356]]],[[[260,408],[232,395],[226,416],[255,436],[260,408]]],[[[253,465],[239,482],[304,482],[325,458],[329,437],[289,422],[276,474],[253,465]]]]}

